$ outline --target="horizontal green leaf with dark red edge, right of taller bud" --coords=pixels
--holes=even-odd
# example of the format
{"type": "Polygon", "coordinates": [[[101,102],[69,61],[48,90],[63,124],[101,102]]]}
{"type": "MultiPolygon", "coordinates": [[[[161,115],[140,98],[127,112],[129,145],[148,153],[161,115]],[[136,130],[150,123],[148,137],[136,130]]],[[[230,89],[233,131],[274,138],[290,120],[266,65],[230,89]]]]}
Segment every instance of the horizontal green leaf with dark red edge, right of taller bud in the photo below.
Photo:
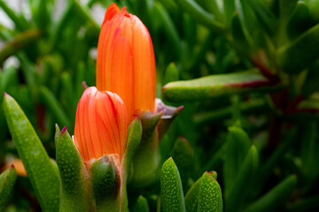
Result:
{"type": "Polygon", "coordinates": [[[162,96],[169,102],[193,102],[223,95],[257,90],[271,90],[269,80],[257,69],[245,72],[215,74],[203,78],[170,82],[162,88],[162,96]]]}

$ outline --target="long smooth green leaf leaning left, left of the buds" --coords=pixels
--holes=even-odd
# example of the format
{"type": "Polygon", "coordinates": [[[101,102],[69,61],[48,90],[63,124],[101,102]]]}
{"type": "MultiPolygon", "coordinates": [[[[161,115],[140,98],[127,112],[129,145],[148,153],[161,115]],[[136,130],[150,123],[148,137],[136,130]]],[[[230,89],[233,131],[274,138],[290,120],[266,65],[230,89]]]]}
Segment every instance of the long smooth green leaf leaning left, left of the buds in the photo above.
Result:
{"type": "Polygon", "coordinates": [[[41,208],[43,211],[58,211],[60,178],[56,168],[19,104],[6,94],[4,114],[41,208]]]}

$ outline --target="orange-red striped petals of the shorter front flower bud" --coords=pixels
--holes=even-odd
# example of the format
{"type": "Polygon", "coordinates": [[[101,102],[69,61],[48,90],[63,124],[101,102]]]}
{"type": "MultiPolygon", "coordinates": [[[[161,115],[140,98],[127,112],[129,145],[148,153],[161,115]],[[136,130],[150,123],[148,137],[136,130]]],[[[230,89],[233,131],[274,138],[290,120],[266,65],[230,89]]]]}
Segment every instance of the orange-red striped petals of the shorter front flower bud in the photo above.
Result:
{"type": "Polygon", "coordinates": [[[128,114],[121,97],[87,88],[76,110],[74,143],[84,162],[102,155],[124,154],[128,114]]]}

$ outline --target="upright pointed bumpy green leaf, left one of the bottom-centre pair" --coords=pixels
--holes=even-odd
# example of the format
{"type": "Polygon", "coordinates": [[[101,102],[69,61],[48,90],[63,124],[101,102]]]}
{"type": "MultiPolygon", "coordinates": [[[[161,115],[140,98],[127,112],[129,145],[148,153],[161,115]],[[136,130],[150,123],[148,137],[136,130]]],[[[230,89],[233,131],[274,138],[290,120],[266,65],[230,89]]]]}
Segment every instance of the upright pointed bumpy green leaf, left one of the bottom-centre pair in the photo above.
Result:
{"type": "Polygon", "coordinates": [[[163,212],[185,211],[182,181],[172,157],[161,169],[160,195],[163,212]]]}

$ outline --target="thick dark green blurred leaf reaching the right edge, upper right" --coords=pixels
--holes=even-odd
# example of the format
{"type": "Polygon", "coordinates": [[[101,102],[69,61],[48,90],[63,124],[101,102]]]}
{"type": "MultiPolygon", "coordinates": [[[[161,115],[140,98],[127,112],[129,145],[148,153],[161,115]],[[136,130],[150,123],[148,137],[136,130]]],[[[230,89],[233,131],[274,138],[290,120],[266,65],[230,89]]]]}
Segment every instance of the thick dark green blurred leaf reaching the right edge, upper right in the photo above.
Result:
{"type": "Polygon", "coordinates": [[[296,74],[319,58],[319,24],[278,50],[278,64],[284,72],[296,74]]]}

